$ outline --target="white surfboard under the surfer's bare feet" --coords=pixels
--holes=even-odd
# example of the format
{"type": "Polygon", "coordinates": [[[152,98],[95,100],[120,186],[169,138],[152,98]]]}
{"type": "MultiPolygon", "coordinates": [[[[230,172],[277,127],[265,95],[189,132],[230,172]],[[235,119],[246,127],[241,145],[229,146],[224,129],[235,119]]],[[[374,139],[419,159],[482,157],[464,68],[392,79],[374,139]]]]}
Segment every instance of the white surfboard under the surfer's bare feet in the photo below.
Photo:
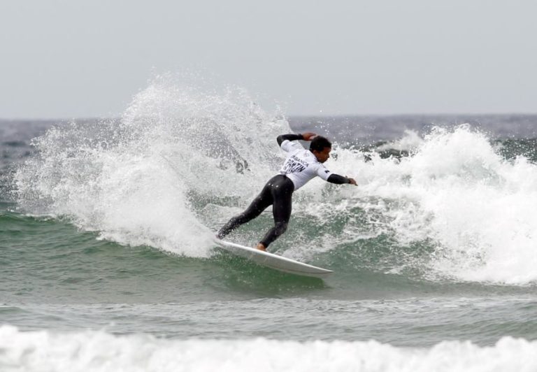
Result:
{"type": "Polygon", "coordinates": [[[321,267],[303,264],[287,257],[274,255],[273,253],[264,252],[255,248],[248,248],[244,245],[231,243],[229,241],[215,240],[217,245],[220,245],[224,250],[227,250],[234,255],[250,259],[251,261],[270,267],[271,269],[284,271],[301,276],[313,276],[315,278],[326,278],[334,271],[322,269],[321,267]]]}

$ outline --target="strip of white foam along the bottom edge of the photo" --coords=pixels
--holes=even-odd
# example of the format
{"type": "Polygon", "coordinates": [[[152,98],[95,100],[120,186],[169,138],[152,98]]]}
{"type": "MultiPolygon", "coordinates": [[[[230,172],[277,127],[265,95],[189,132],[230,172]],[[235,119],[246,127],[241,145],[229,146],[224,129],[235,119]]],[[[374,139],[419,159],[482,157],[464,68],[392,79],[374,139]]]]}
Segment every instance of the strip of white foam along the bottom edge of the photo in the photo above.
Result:
{"type": "Polygon", "coordinates": [[[377,341],[169,340],[105,331],[0,327],[1,371],[535,371],[537,341],[480,347],[449,341],[396,348],[377,341]]]}

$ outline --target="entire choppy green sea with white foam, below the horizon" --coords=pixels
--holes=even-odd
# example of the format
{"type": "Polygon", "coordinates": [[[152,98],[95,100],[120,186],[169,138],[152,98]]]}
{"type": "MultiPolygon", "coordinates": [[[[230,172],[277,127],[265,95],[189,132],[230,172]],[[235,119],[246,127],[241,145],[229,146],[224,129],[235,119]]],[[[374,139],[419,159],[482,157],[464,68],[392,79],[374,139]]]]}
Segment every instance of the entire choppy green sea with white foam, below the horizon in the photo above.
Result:
{"type": "MultiPolygon", "coordinates": [[[[286,117],[156,78],[121,117],[0,122],[0,371],[537,371],[537,115],[286,117]],[[271,251],[215,248],[334,138],[271,251]]],[[[254,245],[270,210],[229,236],[254,245]]]]}

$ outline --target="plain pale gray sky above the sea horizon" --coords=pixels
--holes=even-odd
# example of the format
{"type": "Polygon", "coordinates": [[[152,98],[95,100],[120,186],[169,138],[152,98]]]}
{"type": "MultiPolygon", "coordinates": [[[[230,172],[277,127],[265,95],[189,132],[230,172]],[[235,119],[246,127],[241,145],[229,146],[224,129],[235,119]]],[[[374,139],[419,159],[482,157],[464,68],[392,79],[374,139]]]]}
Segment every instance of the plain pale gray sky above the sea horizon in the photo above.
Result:
{"type": "Polygon", "coordinates": [[[537,1],[1,0],[0,117],[120,115],[200,71],[287,115],[536,113],[537,1]]]}

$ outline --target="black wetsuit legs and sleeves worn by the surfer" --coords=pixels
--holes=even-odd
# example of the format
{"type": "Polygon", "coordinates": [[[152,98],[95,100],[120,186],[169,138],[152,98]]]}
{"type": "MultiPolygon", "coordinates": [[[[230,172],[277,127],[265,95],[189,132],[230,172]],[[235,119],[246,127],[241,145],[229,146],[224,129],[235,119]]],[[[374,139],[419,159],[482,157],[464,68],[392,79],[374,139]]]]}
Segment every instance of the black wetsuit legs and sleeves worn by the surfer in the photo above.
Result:
{"type": "MultiPolygon", "coordinates": [[[[281,145],[283,141],[294,141],[297,139],[303,139],[301,134],[285,134],[278,136],[278,145],[281,145]]],[[[349,183],[349,179],[337,174],[331,174],[327,179],[329,183],[349,183]]],[[[278,174],[268,180],[263,187],[262,192],[250,203],[250,206],[246,210],[237,215],[218,231],[217,237],[224,238],[231,231],[245,224],[246,222],[253,220],[260,215],[263,210],[272,205],[272,214],[274,217],[274,227],[267,231],[262,241],[265,248],[268,247],[278,236],[282,235],[287,230],[287,224],[291,217],[292,210],[292,195],[294,192],[294,183],[287,178],[285,174],[278,174]]]]}

